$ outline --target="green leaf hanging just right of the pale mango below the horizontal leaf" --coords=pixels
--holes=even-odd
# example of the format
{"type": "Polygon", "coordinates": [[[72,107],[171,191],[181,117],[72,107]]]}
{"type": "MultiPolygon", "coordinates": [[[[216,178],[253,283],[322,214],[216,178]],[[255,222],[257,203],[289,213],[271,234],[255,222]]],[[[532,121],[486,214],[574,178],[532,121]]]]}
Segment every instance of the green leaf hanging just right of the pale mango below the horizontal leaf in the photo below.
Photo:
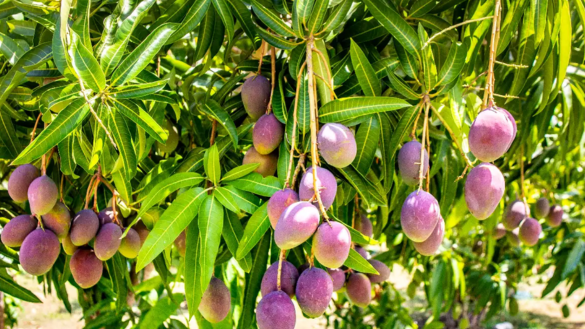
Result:
{"type": "Polygon", "coordinates": [[[353,167],[362,175],[366,175],[374,162],[378,141],[380,140],[380,122],[375,115],[364,121],[355,136],[357,154],[352,162],[353,167]]]}

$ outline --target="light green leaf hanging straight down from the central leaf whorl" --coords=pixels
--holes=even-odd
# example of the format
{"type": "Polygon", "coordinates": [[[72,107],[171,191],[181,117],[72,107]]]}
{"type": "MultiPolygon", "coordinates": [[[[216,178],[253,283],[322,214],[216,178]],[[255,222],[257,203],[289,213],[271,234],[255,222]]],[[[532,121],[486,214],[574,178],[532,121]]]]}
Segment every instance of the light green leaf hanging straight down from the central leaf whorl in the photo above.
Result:
{"type": "Polygon", "coordinates": [[[223,230],[223,207],[215,194],[208,195],[199,207],[199,237],[201,238],[201,257],[199,265],[201,266],[201,291],[207,290],[211,276],[215,257],[219,251],[221,242],[221,232],[223,230]]]}

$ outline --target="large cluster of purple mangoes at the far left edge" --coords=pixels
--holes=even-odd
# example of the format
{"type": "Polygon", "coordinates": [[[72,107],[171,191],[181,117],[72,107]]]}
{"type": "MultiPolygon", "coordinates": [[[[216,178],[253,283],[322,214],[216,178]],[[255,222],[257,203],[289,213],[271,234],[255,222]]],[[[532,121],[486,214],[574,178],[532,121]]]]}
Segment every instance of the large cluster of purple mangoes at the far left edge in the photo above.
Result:
{"type": "Polygon", "coordinates": [[[122,239],[122,228],[114,222],[112,208],[96,214],[84,209],[71,216],[69,208],[58,201],[59,191],[51,178],[25,164],[14,170],[8,180],[8,193],[16,202],[28,201],[32,215],[11,219],[1,235],[2,243],[18,248],[22,268],[32,275],[43,275],[55,264],[60,245],[67,255],[71,274],[82,288],[97,284],[102,277],[103,261],[120,252],[135,258],[143,243],[130,228],[122,239]]]}

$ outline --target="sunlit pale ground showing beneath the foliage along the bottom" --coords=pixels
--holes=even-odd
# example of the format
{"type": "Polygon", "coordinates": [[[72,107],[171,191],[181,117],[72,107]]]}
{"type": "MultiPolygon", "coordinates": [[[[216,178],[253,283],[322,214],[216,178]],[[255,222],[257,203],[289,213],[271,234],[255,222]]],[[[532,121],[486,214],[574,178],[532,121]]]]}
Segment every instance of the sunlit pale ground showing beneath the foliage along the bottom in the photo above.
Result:
{"type": "MultiPolygon", "coordinates": [[[[549,272],[552,275],[552,271],[549,272]]],[[[63,307],[63,304],[55,297],[54,294],[43,296],[42,286],[36,280],[28,275],[19,275],[15,280],[27,289],[34,292],[41,300],[42,304],[32,304],[21,302],[22,308],[18,316],[19,323],[16,328],[22,329],[81,329],[83,328],[82,311],[74,297],[76,295],[75,289],[68,286],[69,296],[71,297],[71,306],[73,313],[69,314],[63,307]]],[[[394,265],[392,274],[389,280],[396,289],[400,290],[406,295],[406,288],[410,282],[410,276],[400,266],[394,265]]],[[[576,291],[571,297],[564,302],[567,303],[571,310],[571,315],[568,318],[563,318],[561,307],[562,304],[557,304],[554,300],[556,292],[549,294],[546,298],[540,299],[544,284],[539,283],[537,278],[531,278],[527,283],[520,284],[520,294],[518,298],[520,311],[516,316],[505,314],[496,316],[486,323],[482,328],[493,328],[495,324],[500,322],[510,322],[515,329],[580,329],[585,328],[585,307],[575,308],[579,301],[585,294],[582,291],[576,291]]],[[[180,287],[176,287],[179,289],[180,287]]],[[[566,286],[560,286],[560,291],[565,295],[568,290],[566,286]]],[[[407,301],[408,308],[415,311],[413,318],[424,319],[426,309],[426,302],[422,291],[419,290],[417,295],[412,300],[407,301]],[[420,310],[420,313],[417,312],[420,310]]],[[[297,308],[297,327],[298,328],[324,328],[325,319],[323,317],[317,319],[306,319],[301,315],[298,304],[295,302],[297,308]]],[[[181,305],[181,311],[177,313],[177,318],[183,318],[188,315],[186,304],[181,305]]],[[[191,328],[197,328],[197,324],[193,320],[191,328]]]]}

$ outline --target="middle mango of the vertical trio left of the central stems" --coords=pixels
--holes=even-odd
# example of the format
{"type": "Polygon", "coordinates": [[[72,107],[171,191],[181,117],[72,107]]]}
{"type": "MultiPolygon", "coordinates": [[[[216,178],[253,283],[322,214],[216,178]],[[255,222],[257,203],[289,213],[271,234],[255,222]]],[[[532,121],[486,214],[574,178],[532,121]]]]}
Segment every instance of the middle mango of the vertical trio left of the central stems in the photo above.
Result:
{"type": "Polygon", "coordinates": [[[284,137],[284,126],[274,114],[264,114],[254,125],[252,142],[260,154],[270,154],[278,148],[284,137]]]}

